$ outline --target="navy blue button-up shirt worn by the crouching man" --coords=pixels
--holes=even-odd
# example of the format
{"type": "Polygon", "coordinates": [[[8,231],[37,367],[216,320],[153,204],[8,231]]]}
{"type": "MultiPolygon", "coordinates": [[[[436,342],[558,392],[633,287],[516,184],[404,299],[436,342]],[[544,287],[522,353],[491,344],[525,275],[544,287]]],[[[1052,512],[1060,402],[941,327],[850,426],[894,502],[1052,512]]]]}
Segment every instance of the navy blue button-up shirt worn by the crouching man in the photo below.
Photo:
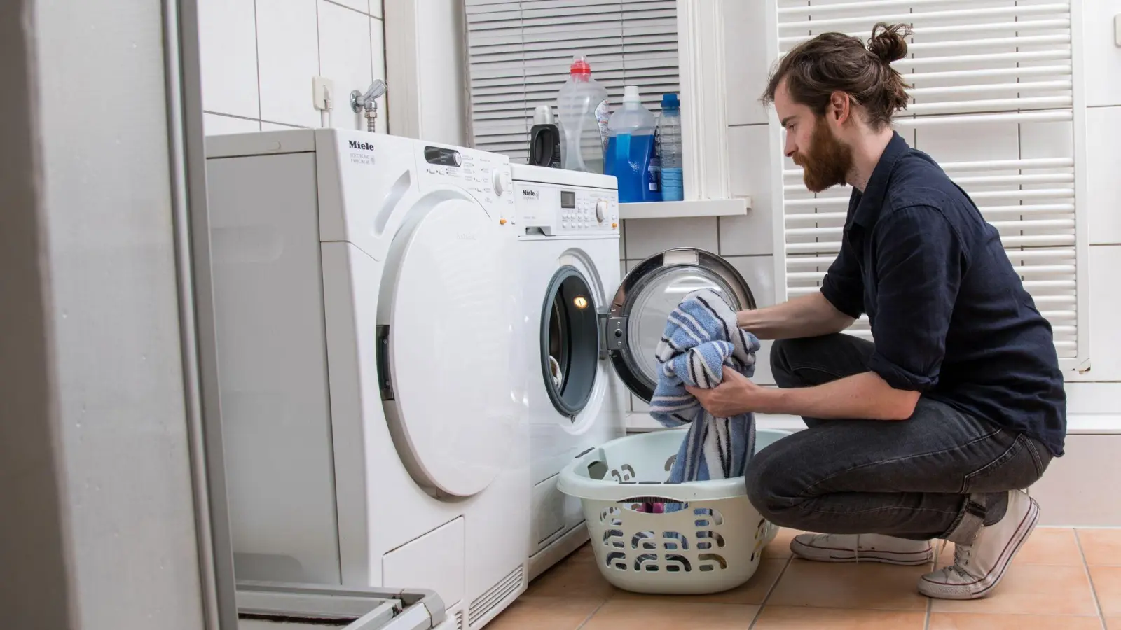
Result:
{"type": "Polygon", "coordinates": [[[822,294],[868,314],[869,369],[1043,442],[1066,437],[1066,395],[1050,324],[997,229],[926,154],[896,133],[863,194],[853,189],[841,253],[822,294]]]}

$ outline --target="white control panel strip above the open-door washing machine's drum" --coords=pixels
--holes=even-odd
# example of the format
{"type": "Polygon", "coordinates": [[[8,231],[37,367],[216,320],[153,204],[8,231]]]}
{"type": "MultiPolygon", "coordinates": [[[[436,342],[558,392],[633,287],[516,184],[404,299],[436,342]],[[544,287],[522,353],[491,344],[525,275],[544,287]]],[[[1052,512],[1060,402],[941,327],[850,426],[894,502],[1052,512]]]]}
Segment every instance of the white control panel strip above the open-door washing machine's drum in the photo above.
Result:
{"type": "Polygon", "coordinates": [[[516,221],[526,229],[519,235],[619,234],[618,191],[520,180],[513,187],[516,221]]]}

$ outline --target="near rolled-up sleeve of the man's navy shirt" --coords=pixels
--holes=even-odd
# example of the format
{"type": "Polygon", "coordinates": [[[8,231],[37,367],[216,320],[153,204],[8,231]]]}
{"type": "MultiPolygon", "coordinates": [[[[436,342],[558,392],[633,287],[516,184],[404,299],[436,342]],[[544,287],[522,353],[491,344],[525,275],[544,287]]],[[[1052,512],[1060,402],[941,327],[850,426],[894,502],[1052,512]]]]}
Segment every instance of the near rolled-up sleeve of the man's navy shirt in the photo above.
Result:
{"type": "Polygon", "coordinates": [[[896,389],[927,391],[938,385],[967,266],[961,238],[939,210],[915,206],[882,217],[873,241],[879,281],[869,369],[896,389]]]}

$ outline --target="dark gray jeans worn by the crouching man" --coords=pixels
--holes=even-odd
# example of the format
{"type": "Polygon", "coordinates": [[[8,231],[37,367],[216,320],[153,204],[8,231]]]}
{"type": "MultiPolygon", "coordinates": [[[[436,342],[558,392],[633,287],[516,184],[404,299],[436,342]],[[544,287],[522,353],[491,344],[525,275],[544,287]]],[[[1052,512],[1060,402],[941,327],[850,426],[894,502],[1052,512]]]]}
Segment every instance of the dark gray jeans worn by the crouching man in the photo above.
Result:
{"type": "MultiPolygon", "coordinates": [[[[777,341],[779,387],[868,371],[872,343],[851,335],[777,341]]],[[[884,534],[970,545],[1004,516],[1008,491],[1050,463],[1043,443],[926,397],[908,420],[804,418],[806,430],[748,465],[748,495],[771,522],[822,534],[884,534]]]]}

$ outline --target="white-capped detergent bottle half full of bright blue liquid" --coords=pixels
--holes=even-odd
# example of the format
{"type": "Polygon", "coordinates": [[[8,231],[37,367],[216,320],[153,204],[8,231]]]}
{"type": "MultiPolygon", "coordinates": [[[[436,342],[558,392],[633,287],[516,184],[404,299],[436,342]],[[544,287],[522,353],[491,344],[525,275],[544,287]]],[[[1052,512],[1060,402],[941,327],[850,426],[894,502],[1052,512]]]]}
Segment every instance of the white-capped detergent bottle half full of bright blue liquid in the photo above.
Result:
{"type": "Polygon", "coordinates": [[[638,86],[623,87],[623,106],[608,120],[603,172],[619,180],[619,203],[658,202],[658,161],[654,151],[656,122],[642,106],[638,86]]]}

